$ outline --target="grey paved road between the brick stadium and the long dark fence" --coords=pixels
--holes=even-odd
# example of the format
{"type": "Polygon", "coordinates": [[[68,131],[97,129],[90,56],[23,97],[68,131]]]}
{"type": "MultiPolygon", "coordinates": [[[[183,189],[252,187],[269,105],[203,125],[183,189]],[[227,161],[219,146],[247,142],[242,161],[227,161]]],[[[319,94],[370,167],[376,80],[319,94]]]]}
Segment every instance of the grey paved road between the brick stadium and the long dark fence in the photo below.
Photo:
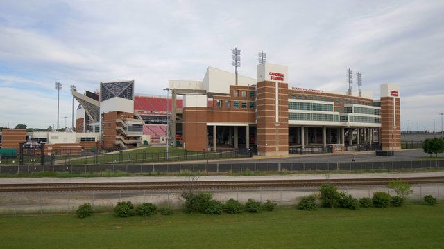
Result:
{"type": "MultiPolygon", "coordinates": [[[[343,163],[350,162],[353,156],[355,156],[357,162],[383,162],[418,160],[419,158],[429,156],[429,154],[426,154],[422,149],[404,149],[395,151],[394,156],[376,156],[375,151],[364,151],[344,152],[343,154],[289,155],[284,158],[253,156],[253,158],[230,161],[233,163],[343,163]]],[[[444,156],[444,154],[438,154],[438,156],[444,156]]],[[[213,162],[216,161],[212,161],[212,163],[213,162]]]]}

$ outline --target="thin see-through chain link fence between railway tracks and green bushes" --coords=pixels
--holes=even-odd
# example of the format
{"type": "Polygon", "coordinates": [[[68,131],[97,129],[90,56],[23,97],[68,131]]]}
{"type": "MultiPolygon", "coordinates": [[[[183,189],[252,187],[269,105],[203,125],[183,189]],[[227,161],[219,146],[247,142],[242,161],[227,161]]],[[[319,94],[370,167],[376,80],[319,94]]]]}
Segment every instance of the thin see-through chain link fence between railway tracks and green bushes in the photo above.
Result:
{"type": "MultiPolygon", "coordinates": [[[[186,184],[186,183],[184,183],[186,184]]],[[[408,201],[422,201],[422,197],[430,194],[438,200],[444,199],[444,185],[428,184],[413,185],[413,194],[408,201]]],[[[203,190],[195,190],[203,192],[203,190]]],[[[372,198],[375,192],[388,192],[394,195],[393,190],[385,186],[352,186],[338,187],[338,191],[351,194],[355,198],[372,198]]],[[[245,203],[250,198],[264,203],[270,200],[280,205],[296,205],[302,196],[309,196],[318,192],[318,187],[298,187],[298,188],[259,188],[259,189],[234,189],[234,190],[205,190],[212,192],[214,199],[225,203],[232,198],[245,203]]],[[[119,201],[131,201],[135,206],[145,202],[155,203],[162,207],[169,205],[171,208],[182,208],[183,201],[180,199],[182,191],[119,191],[119,192],[11,192],[0,193],[0,214],[1,215],[22,215],[22,214],[57,214],[75,213],[78,206],[84,203],[91,203],[94,212],[112,212],[112,208],[119,201]]]]}

